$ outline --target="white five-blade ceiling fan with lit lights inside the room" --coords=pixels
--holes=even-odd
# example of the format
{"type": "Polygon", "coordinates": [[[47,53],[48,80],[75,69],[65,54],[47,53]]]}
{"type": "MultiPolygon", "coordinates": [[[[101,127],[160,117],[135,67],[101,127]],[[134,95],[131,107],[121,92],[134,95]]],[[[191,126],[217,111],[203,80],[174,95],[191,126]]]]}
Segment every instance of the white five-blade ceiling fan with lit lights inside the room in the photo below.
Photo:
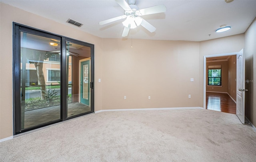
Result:
{"type": "Polygon", "coordinates": [[[101,21],[99,22],[99,24],[104,25],[126,18],[126,20],[122,22],[122,24],[124,25],[122,37],[128,36],[130,29],[136,28],[140,25],[150,32],[156,31],[156,28],[154,26],[152,26],[140,16],[166,12],[166,6],[164,6],[163,4],[139,10],[138,6],[135,5],[136,0],[128,0],[128,3],[125,0],[115,1],[124,9],[124,15],[101,21]]]}

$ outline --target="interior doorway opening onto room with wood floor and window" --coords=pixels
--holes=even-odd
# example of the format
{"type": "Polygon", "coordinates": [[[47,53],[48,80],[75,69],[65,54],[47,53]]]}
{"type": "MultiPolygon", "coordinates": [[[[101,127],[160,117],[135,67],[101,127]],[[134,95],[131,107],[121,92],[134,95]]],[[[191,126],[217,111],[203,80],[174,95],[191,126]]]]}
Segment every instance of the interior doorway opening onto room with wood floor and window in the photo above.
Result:
{"type": "Polygon", "coordinates": [[[204,108],[236,114],[236,54],[204,58],[204,108]]]}

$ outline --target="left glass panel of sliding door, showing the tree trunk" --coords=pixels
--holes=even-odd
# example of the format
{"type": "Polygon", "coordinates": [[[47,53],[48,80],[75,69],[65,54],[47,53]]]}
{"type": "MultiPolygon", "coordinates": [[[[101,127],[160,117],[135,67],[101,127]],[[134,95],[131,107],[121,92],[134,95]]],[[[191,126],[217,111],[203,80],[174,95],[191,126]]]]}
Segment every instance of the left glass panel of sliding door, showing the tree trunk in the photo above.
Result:
{"type": "Polygon", "coordinates": [[[60,120],[60,40],[20,32],[21,129],[60,120]]]}

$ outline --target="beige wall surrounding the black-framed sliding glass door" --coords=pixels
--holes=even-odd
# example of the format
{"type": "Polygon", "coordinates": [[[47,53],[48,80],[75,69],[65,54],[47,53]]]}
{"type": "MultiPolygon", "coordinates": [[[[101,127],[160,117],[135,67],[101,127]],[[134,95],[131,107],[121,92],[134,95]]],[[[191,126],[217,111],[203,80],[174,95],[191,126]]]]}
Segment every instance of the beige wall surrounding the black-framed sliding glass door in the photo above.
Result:
{"type": "MultiPolygon", "coordinates": [[[[45,30],[95,45],[95,78],[102,78],[101,38],[0,3],[0,139],[13,135],[12,112],[12,22],[45,30]]],[[[95,83],[95,110],[102,110],[102,84],[95,83]]]]}

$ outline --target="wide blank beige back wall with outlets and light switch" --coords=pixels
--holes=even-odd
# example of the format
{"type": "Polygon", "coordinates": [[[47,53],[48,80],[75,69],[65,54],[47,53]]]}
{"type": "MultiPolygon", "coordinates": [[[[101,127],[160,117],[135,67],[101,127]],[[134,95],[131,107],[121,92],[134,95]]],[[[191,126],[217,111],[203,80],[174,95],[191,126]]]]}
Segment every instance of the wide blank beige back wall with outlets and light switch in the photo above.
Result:
{"type": "Polygon", "coordinates": [[[103,39],[103,109],[200,106],[199,42],[131,41],[103,39]]]}

